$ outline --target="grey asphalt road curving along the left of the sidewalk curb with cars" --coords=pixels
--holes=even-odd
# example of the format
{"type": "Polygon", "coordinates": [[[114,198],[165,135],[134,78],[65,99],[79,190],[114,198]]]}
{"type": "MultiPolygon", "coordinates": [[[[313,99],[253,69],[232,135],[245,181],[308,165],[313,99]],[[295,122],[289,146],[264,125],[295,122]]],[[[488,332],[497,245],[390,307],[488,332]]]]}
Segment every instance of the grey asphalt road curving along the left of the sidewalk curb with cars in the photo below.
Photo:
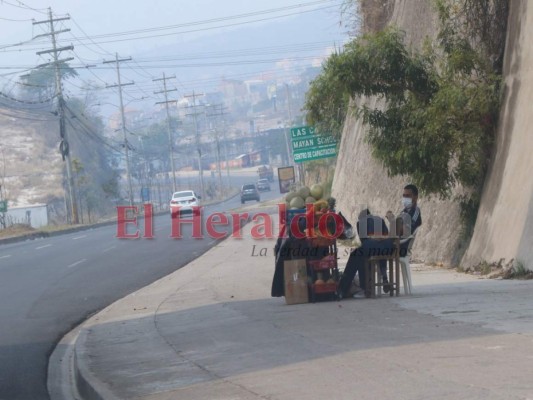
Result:
{"type": "MultiPolygon", "coordinates": [[[[249,178],[236,178],[240,184],[249,178]]],[[[273,186],[275,189],[275,186],[273,186]]],[[[279,196],[273,190],[262,200],[279,196]]],[[[240,206],[239,198],[206,213],[240,206]]],[[[168,215],[154,218],[155,239],[119,240],[115,225],[0,246],[0,399],[48,399],[48,357],[89,315],[168,275],[214,241],[169,238],[168,215]]],[[[218,228],[217,228],[218,229],[218,228]]]]}

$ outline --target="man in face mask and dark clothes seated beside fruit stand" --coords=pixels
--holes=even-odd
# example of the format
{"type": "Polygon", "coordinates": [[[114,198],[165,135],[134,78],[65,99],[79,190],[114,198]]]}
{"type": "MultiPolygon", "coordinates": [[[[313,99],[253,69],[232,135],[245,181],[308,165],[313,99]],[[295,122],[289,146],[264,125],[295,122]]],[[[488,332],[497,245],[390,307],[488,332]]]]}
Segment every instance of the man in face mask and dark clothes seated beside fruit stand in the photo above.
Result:
{"type": "MultiPolygon", "coordinates": [[[[418,188],[415,185],[405,186],[402,198],[403,211],[398,217],[395,217],[391,211],[387,212],[392,236],[409,237],[422,225],[422,216],[417,206],[417,201],[418,188]]],[[[394,251],[394,240],[392,238],[384,240],[372,239],[372,236],[376,235],[375,228],[379,226],[380,220],[382,221],[380,236],[389,234],[384,221],[379,217],[372,216],[368,210],[363,210],[361,214],[357,223],[361,247],[351,252],[339,282],[339,289],[343,297],[347,297],[350,294],[350,287],[357,272],[359,272],[359,285],[361,289],[365,289],[365,265],[370,256],[392,254],[394,251]],[[366,217],[364,216],[365,211],[366,217]],[[365,224],[366,226],[364,226],[365,224]],[[366,232],[364,228],[366,228],[366,232]]],[[[406,255],[408,246],[409,241],[400,245],[400,256],[406,255]]],[[[383,290],[387,293],[390,290],[390,286],[387,285],[386,262],[380,262],[380,270],[383,276],[383,290]]]]}

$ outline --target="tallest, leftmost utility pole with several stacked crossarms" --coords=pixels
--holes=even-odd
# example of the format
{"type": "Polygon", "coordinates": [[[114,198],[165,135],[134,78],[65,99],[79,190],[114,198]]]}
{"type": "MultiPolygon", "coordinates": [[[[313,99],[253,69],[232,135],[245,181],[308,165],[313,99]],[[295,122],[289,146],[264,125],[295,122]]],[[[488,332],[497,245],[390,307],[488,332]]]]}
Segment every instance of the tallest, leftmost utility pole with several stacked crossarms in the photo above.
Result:
{"type": "Polygon", "coordinates": [[[40,25],[40,24],[49,24],[50,25],[50,32],[43,33],[41,35],[37,35],[34,37],[34,39],[44,36],[50,36],[52,39],[52,49],[50,50],[43,50],[38,51],[37,55],[43,55],[43,54],[52,54],[54,61],[46,64],[38,65],[37,68],[44,68],[53,65],[54,71],[55,71],[55,83],[56,83],[56,96],[57,96],[57,114],[59,116],[59,135],[61,137],[61,145],[60,145],[60,152],[61,157],[63,158],[63,161],[66,162],[66,170],[67,170],[67,187],[68,187],[68,204],[70,206],[70,210],[67,210],[67,219],[72,224],[78,224],[78,208],[77,208],[77,200],[76,200],[76,191],[74,189],[74,178],[72,177],[72,162],[70,158],[70,147],[68,142],[68,133],[65,129],[65,100],[63,98],[63,87],[61,85],[61,71],[60,71],[60,64],[65,64],[68,61],[73,60],[74,58],[69,57],[60,60],[59,55],[62,51],[67,50],[74,50],[74,46],[65,46],[65,47],[57,47],[57,35],[65,32],[69,32],[70,29],[63,29],[60,31],[55,30],[55,22],[58,21],[66,21],[69,20],[70,17],[62,17],[62,18],[54,18],[52,14],[52,9],[48,8],[48,19],[44,21],[36,21],[33,22],[33,25],[40,25]],[[70,212],[69,212],[70,211],[70,212]]]}

